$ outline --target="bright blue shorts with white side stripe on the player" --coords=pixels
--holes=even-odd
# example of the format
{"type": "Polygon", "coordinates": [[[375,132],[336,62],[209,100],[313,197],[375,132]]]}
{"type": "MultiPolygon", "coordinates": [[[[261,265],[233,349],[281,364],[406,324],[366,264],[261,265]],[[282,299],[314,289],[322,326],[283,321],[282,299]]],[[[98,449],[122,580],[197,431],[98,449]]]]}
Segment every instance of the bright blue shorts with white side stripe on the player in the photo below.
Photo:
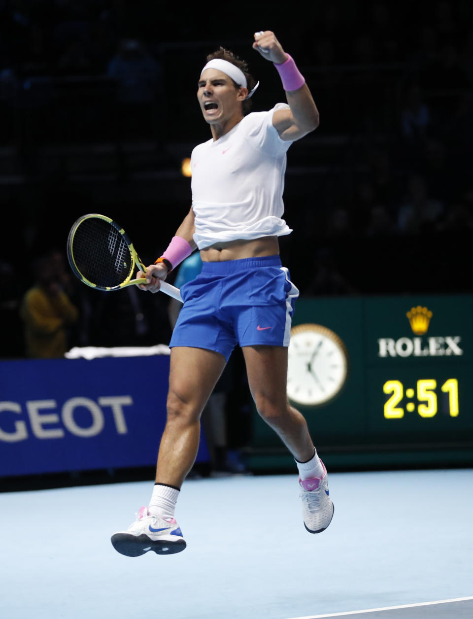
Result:
{"type": "Polygon", "coordinates": [[[181,295],[170,348],[206,348],[228,361],[237,344],[289,346],[299,291],[279,256],[204,262],[181,295]]]}

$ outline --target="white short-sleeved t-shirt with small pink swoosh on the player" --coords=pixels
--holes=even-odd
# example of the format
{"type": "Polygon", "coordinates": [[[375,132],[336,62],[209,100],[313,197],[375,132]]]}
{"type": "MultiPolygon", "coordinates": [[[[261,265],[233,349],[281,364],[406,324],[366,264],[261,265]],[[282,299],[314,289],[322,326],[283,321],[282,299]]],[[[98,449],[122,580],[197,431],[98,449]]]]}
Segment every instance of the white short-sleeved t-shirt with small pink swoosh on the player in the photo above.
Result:
{"type": "Polygon", "coordinates": [[[252,240],[292,232],[284,219],[286,152],[292,142],[272,125],[275,110],[254,112],[191,155],[194,241],[204,249],[218,241],[252,240]]]}

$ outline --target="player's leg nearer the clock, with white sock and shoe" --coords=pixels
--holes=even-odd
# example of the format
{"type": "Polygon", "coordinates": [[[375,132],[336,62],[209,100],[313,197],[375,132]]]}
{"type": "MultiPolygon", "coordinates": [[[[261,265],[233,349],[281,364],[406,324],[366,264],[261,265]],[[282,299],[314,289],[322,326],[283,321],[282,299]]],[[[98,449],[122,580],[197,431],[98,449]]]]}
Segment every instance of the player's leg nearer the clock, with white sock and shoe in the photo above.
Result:
{"type": "Polygon", "coordinates": [[[242,350],[256,409],[295,458],[304,526],[311,533],[319,533],[329,526],[334,506],[329,498],[327,472],[306,420],[287,400],[287,347],[255,345],[242,350]]]}

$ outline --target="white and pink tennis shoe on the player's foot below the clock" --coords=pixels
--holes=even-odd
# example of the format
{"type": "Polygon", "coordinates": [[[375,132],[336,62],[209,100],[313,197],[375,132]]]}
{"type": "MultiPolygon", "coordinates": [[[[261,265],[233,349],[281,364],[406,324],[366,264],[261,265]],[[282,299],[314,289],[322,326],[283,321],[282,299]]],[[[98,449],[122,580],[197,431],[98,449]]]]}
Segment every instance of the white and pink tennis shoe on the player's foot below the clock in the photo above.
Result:
{"type": "MultiPolygon", "coordinates": [[[[321,464],[324,467],[323,462],[321,464]]],[[[321,478],[313,477],[304,481],[299,478],[299,485],[302,488],[300,498],[304,526],[309,533],[321,533],[329,526],[334,515],[326,468],[321,478]]]]}

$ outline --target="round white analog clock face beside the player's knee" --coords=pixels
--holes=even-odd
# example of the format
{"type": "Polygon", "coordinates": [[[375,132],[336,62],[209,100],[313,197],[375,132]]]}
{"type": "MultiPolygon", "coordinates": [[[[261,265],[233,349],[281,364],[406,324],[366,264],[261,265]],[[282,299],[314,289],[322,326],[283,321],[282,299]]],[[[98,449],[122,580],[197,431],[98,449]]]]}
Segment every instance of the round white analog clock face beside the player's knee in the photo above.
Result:
{"type": "Polygon", "coordinates": [[[295,404],[328,402],[347,378],[348,359],[342,340],[327,327],[300,324],[291,330],[287,397],[295,404]]]}

